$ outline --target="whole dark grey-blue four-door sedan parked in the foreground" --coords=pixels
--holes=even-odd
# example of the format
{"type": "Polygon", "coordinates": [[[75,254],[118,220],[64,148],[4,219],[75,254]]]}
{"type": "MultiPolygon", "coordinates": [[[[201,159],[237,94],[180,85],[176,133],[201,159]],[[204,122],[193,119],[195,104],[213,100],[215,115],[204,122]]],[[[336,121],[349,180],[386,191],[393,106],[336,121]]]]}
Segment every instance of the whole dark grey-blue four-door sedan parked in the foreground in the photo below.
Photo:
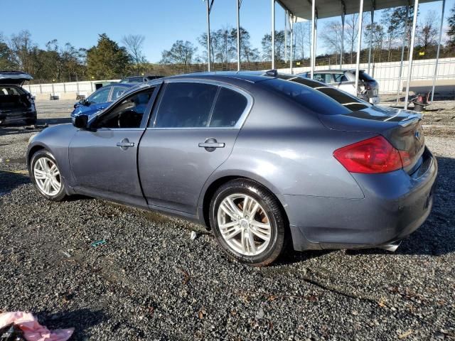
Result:
{"type": "Polygon", "coordinates": [[[31,179],[49,200],[82,194],[196,220],[255,266],[291,247],[395,249],[432,209],[437,162],[421,117],[293,80],[138,85],[31,139],[31,179]]]}

